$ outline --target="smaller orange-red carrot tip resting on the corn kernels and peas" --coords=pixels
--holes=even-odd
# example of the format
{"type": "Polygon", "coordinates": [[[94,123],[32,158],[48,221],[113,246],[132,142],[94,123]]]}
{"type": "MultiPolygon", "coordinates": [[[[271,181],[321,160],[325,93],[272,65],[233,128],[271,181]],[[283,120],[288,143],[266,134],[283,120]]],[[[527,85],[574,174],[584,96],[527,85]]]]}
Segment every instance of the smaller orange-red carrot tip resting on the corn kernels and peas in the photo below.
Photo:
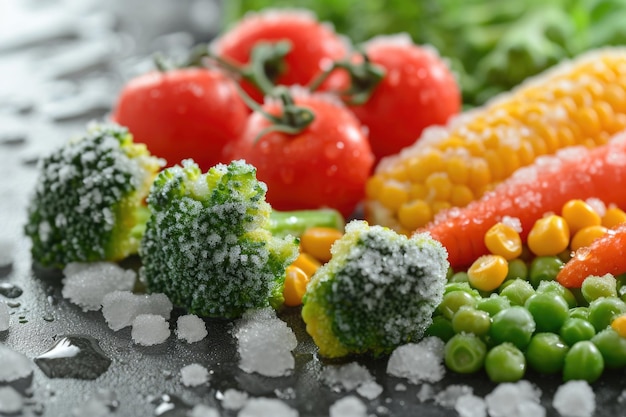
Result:
{"type": "Polygon", "coordinates": [[[564,287],[580,288],[589,275],[623,272],[626,272],[626,224],[610,229],[589,246],[576,250],[556,279],[564,287]]]}

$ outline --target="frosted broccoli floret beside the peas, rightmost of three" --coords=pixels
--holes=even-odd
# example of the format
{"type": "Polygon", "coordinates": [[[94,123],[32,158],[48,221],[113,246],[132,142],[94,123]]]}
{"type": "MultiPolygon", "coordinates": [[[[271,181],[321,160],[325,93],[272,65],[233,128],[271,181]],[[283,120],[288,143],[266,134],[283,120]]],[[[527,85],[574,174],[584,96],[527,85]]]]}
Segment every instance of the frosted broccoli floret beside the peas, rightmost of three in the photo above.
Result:
{"type": "Polygon", "coordinates": [[[446,283],[447,252],[439,242],[353,220],[331,253],[302,307],[320,355],[378,356],[424,335],[446,283]]]}

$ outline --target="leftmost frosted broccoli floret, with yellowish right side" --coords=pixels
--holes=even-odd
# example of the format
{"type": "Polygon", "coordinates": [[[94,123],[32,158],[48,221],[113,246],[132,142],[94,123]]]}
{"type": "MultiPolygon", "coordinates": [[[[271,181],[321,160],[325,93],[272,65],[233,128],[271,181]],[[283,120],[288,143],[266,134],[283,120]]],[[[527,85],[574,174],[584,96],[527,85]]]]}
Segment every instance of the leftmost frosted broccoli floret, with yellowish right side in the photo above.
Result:
{"type": "Polygon", "coordinates": [[[39,160],[24,226],[33,261],[118,261],[137,253],[145,197],[163,161],[122,126],[92,123],[84,136],[39,160]]]}

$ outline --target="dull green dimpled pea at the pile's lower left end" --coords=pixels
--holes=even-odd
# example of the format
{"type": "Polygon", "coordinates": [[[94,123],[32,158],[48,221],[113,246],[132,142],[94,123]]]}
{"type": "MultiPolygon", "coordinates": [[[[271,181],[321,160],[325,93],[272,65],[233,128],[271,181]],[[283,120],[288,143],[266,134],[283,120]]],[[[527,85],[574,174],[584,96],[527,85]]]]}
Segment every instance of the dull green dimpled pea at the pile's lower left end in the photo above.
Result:
{"type": "Polygon", "coordinates": [[[461,374],[470,374],[482,369],[487,346],[472,333],[458,333],[445,345],[444,362],[448,369],[461,374]]]}

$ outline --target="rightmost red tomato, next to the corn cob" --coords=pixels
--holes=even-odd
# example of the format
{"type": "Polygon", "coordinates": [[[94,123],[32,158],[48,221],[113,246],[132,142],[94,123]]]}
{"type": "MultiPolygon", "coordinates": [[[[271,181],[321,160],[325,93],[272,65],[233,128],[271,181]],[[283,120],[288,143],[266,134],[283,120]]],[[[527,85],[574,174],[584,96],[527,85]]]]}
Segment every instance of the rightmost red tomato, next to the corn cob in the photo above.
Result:
{"type": "Polygon", "coordinates": [[[365,44],[369,60],[386,74],[363,105],[350,109],[369,128],[376,158],[398,153],[424,128],[445,124],[461,110],[460,87],[435,50],[403,35],[380,36],[365,44]]]}

